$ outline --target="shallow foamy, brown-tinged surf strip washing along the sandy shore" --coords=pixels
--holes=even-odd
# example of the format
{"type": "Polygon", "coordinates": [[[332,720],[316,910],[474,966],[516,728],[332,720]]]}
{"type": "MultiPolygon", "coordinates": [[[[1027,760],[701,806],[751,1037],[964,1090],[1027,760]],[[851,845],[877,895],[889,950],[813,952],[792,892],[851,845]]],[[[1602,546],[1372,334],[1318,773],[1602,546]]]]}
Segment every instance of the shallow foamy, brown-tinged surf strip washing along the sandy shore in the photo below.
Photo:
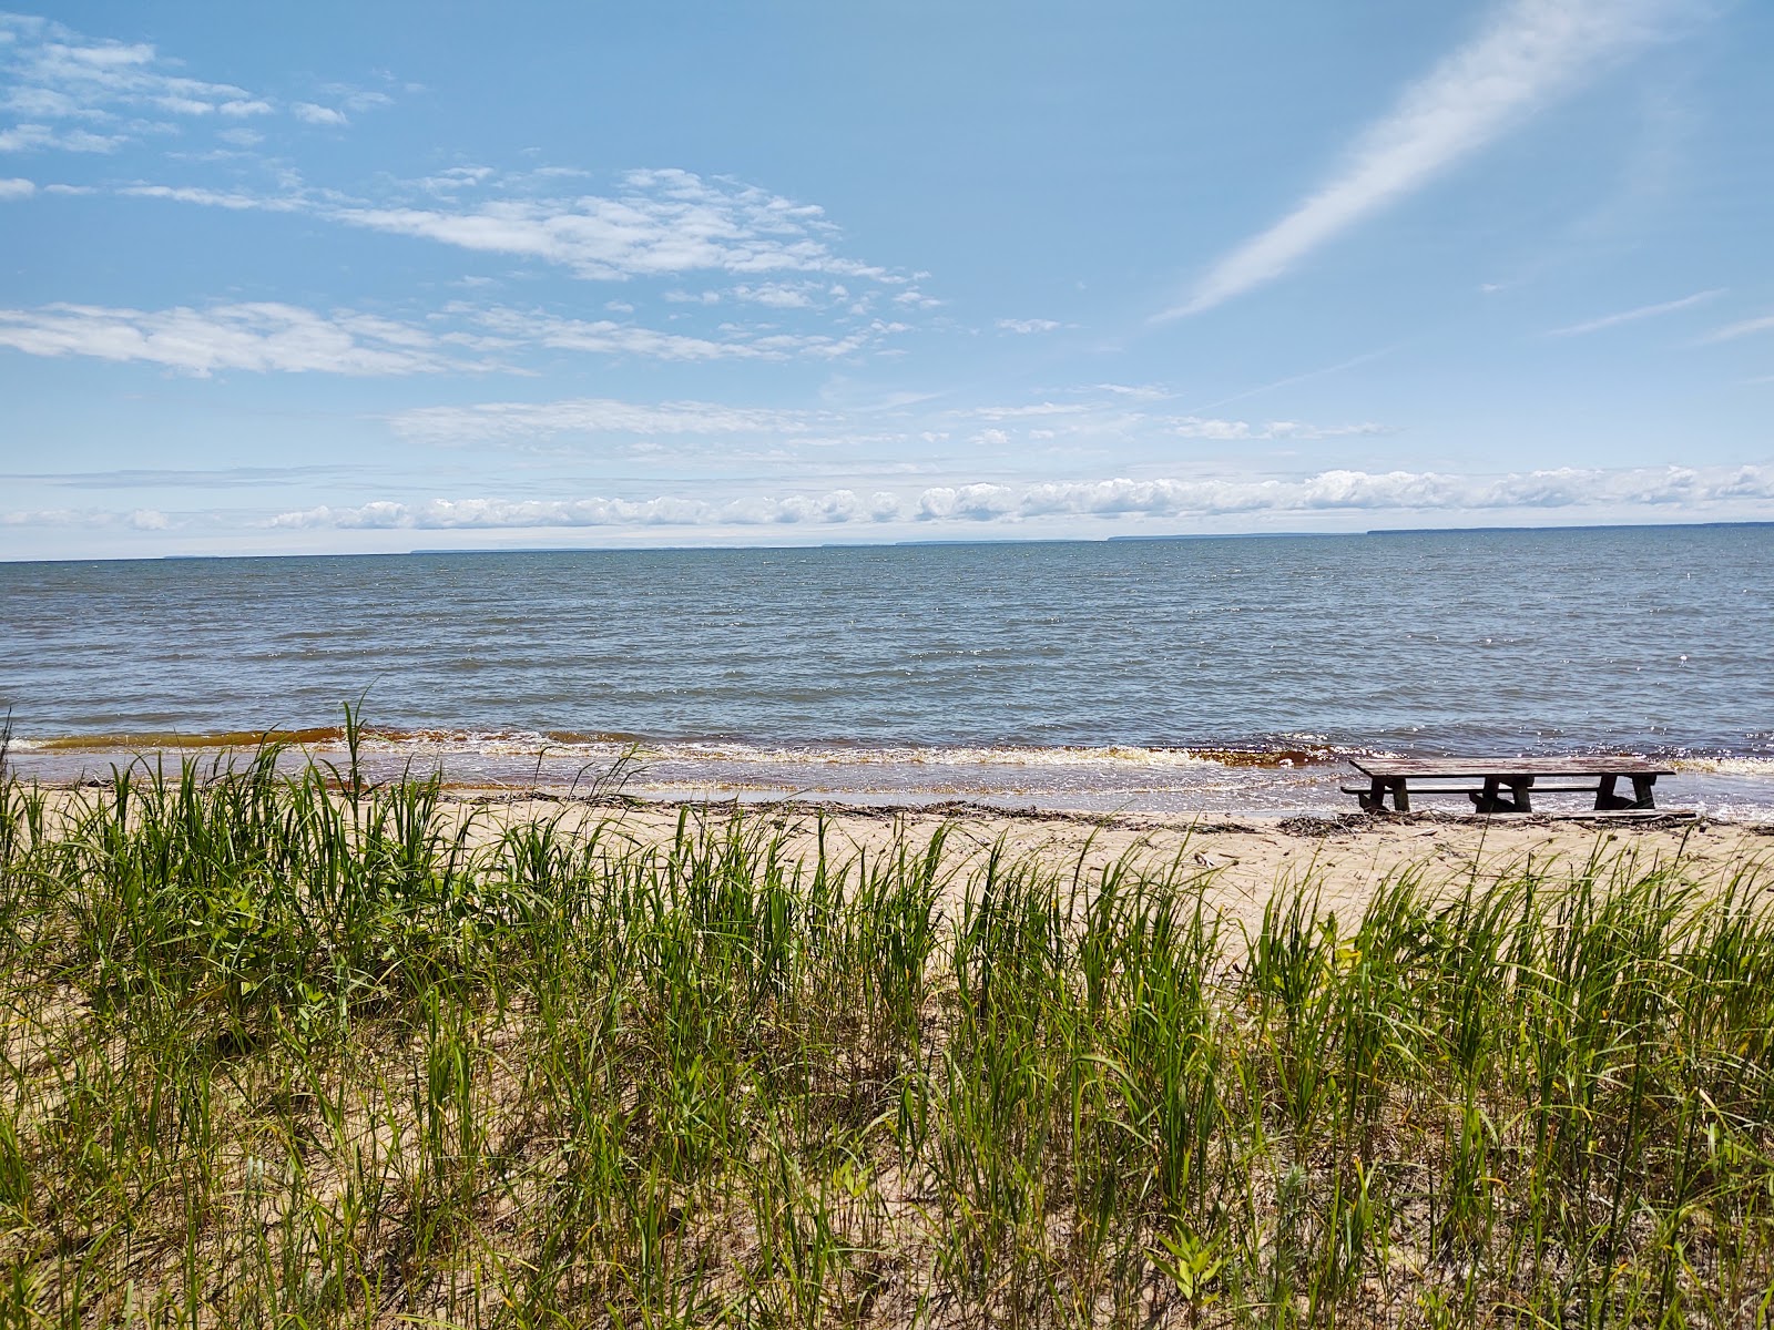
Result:
{"type": "MultiPolygon", "coordinates": [[[[303,732],[307,734],[307,732],[303,732]]],[[[165,738],[165,736],[154,736],[165,738]]],[[[243,768],[261,752],[252,736],[190,736],[174,745],[122,747],[103,738],[14,738],[7,766],[25,780],[67,786],[108,780],[115,770],[199,775],[243,768]],[[199,739],[239,739],[199,743],[199,739]]],[[[1302,736],[1304,738],[1304,736],[1302,736]]],[[[1235,747],[885,747],[763,745],[740,739],[648,743],[603,738],[550,743],[543,736],[369,731],[358,747],[367,780],[429,778],[452,794],[616,791],[665,803],[743,802],[837,809],[981,807],[1079,816],[1339,816],[1354,800],[1339,786],[1354,748],[1235,747]]],[[[351,750],[330,732],[280,750],[286,773],[303,766],[348,770],[351,750]]],[[[1668,810],[1724,821],[1774,819],[1774,757],[1689,755],[1659,786],[1668,810]]],[[[1430,805],[1435,807],[1435,805],[1430,805]]],[[[1582,802],[1554,796],[1552,814],[1581,814],[1582,802]]]]}

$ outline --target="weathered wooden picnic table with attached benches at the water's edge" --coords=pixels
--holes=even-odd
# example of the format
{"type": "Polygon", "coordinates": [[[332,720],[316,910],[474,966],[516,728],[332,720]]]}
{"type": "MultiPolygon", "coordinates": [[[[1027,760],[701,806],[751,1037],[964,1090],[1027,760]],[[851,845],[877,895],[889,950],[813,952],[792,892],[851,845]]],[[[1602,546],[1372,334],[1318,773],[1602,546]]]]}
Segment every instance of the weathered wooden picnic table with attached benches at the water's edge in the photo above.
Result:
{"type": "Polygon", "coordinates": [[[1352,757],[1366,786],[1343,786],[1366,812],[1410,812],[1410,794],[1465,794],[1480,812],[1533,812],[1535,794],[1595,794],[1598,810],[1655,809],[1652,786],[1675,768],[1644,757],[1352,757]],[[1471,782],[1481,782],[1472,786],[1471,782]],[[1616,794],[1621,780],[1632,794],[1616,794]],[[1542,784],[1547,782],[1547,784],[1542,784]],[[1572,784],[1581,782],[1581,784],[1572,784]]]}

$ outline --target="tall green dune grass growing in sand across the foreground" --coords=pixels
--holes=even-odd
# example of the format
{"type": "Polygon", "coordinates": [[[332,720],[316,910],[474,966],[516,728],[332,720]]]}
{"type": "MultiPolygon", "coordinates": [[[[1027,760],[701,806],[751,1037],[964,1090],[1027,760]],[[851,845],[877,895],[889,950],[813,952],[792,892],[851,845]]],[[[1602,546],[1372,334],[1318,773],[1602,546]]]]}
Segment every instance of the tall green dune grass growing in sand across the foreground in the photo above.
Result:
{"type": "Polygon", "coordinates": [[[0,1325],[1756,1326],[1769,878],[0,778],[0,1325]]]}

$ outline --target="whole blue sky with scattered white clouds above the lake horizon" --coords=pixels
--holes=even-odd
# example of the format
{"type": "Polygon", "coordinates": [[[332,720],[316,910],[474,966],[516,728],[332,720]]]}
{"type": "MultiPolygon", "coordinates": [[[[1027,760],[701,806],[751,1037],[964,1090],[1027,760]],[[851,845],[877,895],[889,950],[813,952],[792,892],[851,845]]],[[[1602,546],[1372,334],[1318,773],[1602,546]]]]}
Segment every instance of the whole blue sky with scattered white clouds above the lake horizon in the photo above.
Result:
{"type": "Polygon", "coordinates": [[[0,18],[0,557],[1774,518],[1774,7],[0,18]]]}

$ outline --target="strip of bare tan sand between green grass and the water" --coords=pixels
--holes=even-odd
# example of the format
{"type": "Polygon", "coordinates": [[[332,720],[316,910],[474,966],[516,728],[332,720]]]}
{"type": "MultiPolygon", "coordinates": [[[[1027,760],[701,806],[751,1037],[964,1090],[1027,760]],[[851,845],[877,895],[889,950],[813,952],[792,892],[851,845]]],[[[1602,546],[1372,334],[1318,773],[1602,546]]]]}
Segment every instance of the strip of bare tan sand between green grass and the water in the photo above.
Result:
{"type": "Polygon", "coordinates": [[[1332,818],[1231,818],[1222,814],[1066,814],[1013,812],[985,805],[876,809],[784,803],[626,803],[593,805],[527,798],[502,791],[456,791],[454,819],[472,823],[472,841],[523,821],[561,819],[589,833],[603,826],[637,848],[671,844],[679,814],[722,826],[742,818],[768,828],[784,857],[811,864],[823,826],[828,855],[880,855],[905,844],[921,849],[944,835],[946,899],[960,901],[992,858],[1034,864],[1059,883],[1087,892],[1103,867],[1126,860],[1146,872],[1176,872],[1199,883],[1228,926],[1254,929],[1277,888],[1307,887],[1320,910],[1355,919],[1375,888],[1405,874],[1458,890],[1531,871],[1559,881],[1602,864],[1600,876],[1652,872],[1715,883],[1758,871],[1774,890],[1774,825],[1728,823],[1671,814],[1652,819],[1568,816],[1343,814],[1332,818]]]}

